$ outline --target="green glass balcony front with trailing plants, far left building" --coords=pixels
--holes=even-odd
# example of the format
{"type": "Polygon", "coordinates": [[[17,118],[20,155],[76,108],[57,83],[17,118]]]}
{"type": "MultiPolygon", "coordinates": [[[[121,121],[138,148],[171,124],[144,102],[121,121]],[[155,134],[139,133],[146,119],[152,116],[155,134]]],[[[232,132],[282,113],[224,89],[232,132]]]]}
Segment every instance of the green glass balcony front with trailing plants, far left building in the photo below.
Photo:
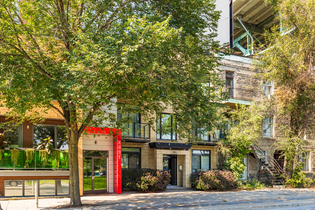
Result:
{"type": "Polygon", "coordinates": [[[30,148],[0,150],[0,170],[69,170],[68,150],[55,149],[52,156],[44,151],[30,148]]]}

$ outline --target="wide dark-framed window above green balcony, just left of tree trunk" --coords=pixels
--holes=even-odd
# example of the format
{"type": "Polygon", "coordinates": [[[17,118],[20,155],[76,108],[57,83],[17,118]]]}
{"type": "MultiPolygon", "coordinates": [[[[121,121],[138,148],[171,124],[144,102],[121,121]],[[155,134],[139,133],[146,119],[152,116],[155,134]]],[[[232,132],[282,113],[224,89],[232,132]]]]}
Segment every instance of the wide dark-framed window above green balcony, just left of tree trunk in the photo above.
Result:
{"type": "Polygon", "coordinates": [[[47,139],[50,136],[55,149],[68,149],[68,138],[65,126],[56,125],[34,125],[33,126],[33,146],[47,139]],[[57,140],[57,141],[55,141],[57,140]]]}

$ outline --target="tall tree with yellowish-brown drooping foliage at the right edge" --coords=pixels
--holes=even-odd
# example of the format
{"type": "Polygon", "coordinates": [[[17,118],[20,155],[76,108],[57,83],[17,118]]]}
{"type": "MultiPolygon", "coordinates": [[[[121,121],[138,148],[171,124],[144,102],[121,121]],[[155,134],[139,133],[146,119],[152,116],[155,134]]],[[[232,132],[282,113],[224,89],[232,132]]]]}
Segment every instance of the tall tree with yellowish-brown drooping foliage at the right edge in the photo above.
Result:
{"type": "Polygon", "coordinates": [[[264,79],[274,81],[278,113],[289,119],[284,138],[285,162],[293,162],[304,135],[315,125],[315,0],[269,0],[280,26],[266,32],[268,49],[258,54],[264,79]],[[280,27],[282,30],[280,30],[280,27]]]}

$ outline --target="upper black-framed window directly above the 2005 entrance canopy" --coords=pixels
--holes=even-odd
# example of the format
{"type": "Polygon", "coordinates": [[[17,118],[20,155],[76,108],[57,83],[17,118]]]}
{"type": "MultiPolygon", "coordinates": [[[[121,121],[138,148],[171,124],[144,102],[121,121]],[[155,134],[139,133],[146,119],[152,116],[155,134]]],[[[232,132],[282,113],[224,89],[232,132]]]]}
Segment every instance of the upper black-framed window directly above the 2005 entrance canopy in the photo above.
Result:
{"type": "Polygon", "coordinates": [[[172,114],[162,113],[157,117],[157,139],[176,140],[176,122],[172,114]]]}

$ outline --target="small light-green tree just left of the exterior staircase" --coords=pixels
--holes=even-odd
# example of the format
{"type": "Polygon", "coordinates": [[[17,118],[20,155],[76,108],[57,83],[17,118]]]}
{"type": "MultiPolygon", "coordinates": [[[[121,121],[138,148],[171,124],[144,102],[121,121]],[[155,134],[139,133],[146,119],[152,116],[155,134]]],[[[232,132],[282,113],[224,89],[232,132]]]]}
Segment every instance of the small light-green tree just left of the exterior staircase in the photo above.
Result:
{"type": "Polygon", "coordinates": [[[225,167],[238,179],[242,177],[246,166],[243,158],[250,153],[249,147],[258,144],[262,136],[262,125],[269,103],[252,102],[251,106],[236,104],[236,109],[228,113],[231,118],[226,138],[218,142],[218,151],[227,158],[225,167]]]}

